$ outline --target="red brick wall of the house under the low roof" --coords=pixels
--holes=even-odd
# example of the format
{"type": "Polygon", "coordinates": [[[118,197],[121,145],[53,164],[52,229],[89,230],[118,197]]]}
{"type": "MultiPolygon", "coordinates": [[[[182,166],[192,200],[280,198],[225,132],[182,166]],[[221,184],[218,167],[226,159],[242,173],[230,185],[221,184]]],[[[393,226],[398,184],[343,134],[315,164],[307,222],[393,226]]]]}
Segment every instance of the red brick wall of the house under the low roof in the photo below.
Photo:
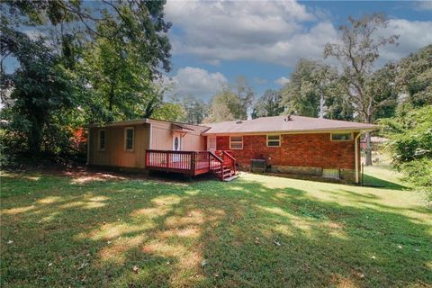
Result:
{"type": "MultiPolygon", "coordinates": [[[[281,135],[280,147],[267,147],[266,135],[244,135],[243,149],[231,150],[240,166],[250,159],[266,158],[275,166],[310,166],[355,169],[354,139],[331,141],[329,133],[281,135]]],[[[229,136],[218,136],[218,150],[229,150],[229,136]]]]}

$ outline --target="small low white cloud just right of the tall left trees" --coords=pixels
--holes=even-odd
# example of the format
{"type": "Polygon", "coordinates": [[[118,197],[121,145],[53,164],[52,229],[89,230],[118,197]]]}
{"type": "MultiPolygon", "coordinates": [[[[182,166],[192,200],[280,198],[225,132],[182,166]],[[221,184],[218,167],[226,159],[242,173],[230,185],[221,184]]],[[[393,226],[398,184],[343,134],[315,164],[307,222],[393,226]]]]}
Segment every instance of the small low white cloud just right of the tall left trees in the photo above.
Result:
{"type": "Polygon", "coordinates": [[[228,80],[220,72],[210,73],[199,67],[184,67],[171,79],[173,94],[179,96],[193,95],[208,100],[228,80]]]}

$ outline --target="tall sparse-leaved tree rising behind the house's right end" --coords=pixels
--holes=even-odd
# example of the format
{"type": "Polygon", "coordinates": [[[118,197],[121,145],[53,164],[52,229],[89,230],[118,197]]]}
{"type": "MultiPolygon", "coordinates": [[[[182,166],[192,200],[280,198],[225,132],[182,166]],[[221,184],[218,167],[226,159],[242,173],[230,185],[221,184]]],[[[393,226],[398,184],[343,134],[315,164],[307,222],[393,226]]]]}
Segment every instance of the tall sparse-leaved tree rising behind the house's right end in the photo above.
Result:
{"type": "MultiPolygon", "coordinates": [[[[395,44],[398,39],[397,35],[376,35],[377,31],[385,28],[387,24],[383,14],[365,15],[360,20],[349,17],[348,25],[339,28],[342,32],[340,41],[328,43],[324,50],[326,58],[334,57],[338,60],[347,85],[346,94],[366,123],[374,121],[374,113],[380,101],[370,93],[371,89],[367,89],[374,73],[375,61],[379,58],[379,51],[383,46],[395,44]]],[[[366,165],[372,165],[370,133],[366,133],[366,142],[366,165]]]]}

